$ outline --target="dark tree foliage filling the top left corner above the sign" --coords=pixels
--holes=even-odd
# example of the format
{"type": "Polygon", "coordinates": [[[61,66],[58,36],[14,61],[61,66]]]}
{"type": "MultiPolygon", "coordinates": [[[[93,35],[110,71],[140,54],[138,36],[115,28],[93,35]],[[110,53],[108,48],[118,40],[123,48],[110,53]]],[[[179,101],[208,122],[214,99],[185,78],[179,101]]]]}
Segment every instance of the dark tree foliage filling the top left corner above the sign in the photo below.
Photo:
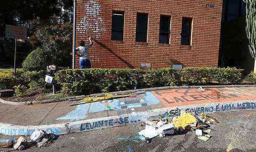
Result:
{"type": "Polygon", "coordinates": [[[3,37],[5,24],[25,26],[29,36],[36,31],[35,27],[53,25],[56,17],[63,19],[72,9],[73,0],[3,0],[0,5],[0,37],[3,37]]]}

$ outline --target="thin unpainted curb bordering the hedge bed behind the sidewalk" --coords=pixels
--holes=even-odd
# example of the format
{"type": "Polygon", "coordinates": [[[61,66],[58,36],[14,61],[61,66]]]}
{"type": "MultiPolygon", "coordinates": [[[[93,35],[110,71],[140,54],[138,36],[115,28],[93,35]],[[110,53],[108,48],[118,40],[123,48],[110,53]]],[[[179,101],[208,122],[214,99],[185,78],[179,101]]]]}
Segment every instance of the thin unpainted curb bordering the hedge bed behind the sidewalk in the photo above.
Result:
{"type": "MultiPolygon", "coordinates": [[[[157,91],[157,90],[167,90],[167,89],[179,89],[179,88],[238,88],[238,87],[256,87],[256,85],[189,85],[189,86],[168,86],[168,87],[157,87],[157,88],[143,88],[137,90],[126,90],[126,91],[119,91],[119,92],[109,92],[109,93],[126,93],[131,91],[157,91]]],[[[82,96],[69,96],[66,98],[61,99],[53,99],[53,100],[44,100],[44,101],[27,101],[27,102],[12,102],[12,101],[5,101],[0,98],[0,103],[9,104],[9,105],[31,105],[31,104],[46,104],[46,103],[53,103],[53,102],[62,102],[69,99],[76,99],[76,98],[86,98],[91,96],[101,96],[105,95],[106,93],[97,93],[92,95],[82,95],[82,96]]]]}

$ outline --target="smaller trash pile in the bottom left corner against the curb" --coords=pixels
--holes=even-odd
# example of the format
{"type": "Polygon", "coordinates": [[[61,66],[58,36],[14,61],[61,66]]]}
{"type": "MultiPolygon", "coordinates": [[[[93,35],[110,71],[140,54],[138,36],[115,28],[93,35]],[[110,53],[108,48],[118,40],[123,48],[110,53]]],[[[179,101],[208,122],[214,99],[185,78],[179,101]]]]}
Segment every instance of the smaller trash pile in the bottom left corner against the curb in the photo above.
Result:
{"type": "Polygon", "coordinates": [[[42,147],[51,143],[53,140],[56,140],[58,136],[52,133],[46,133],[43,130],[37,129],[35,130],[30,138],[25,138],[24,136],[20,136],[19,138],[16,137],[9,137],[9,138],[0,138],[0,147],[10,148],[12,149],[8,151],[14,150],[24,150],[28,149],[29,147],[38,146],[42,147]]]}

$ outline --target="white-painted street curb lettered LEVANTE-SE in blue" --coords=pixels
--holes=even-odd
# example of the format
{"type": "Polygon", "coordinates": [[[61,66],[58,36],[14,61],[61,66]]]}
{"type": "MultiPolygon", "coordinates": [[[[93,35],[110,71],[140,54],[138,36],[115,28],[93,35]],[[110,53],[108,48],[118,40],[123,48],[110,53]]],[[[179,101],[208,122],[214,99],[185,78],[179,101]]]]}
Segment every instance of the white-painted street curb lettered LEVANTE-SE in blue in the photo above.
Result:
{"type": "Polygon", "coordinates": [[[110,127],[132,125],[142,123],[145,119],[157,118],[159,115],[165,117],[174,114],[176,108],[180,112],[195,113],[214,113],[229,112],[234,110],[254,110],[256,109],[256,101],[231,101],[231,102],[215,102],[198,105],[184,105],[178,107],[162,108],[148,110],[146,112],[129,113],[124,115],[108,116],[102,118],[94,118],[82,121],[75,121],[61,124],[50,124],[41,126],[18,126],[12,124],[0,123],[0,133],[9,136],[31,135],[36,129],[42,129],[47,133],[63,135],[68,133],[80,133],[90,130],[105,129],[110,127]]]}

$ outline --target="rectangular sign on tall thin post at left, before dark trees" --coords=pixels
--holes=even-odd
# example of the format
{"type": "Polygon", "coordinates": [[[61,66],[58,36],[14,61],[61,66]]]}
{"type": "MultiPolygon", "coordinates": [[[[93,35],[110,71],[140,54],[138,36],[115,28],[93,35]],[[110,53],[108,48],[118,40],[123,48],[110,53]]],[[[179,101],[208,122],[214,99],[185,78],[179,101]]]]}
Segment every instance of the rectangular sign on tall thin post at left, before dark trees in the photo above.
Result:
{"type": "Polygon", "coordinates": [[[15,51],[14,51],[14,77],[16,81],[16,54],[17,54],[17,39],[27,38],[27,29],[24,27],[5,25],[5,37],[9,39],[15,39],[15,51]]]}

